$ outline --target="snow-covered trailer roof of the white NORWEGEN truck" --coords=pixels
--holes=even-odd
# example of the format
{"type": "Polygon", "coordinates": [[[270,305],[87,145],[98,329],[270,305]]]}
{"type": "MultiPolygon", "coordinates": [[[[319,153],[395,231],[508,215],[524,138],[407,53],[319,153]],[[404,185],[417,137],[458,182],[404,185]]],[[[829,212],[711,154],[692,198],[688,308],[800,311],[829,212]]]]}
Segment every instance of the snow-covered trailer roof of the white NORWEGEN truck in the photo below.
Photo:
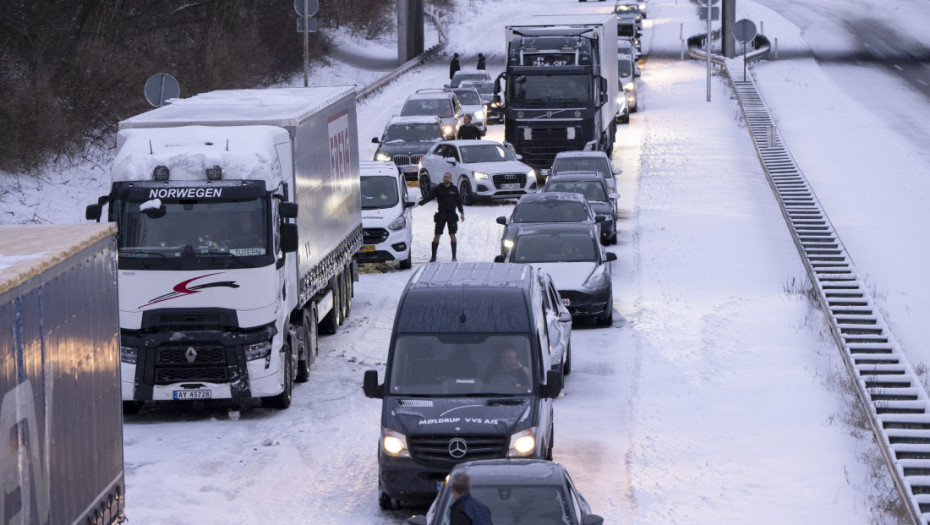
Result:
{"type": "Polygon", "coordinates": [[[120,129],[179,124],[293,126],[355,92],[354,86],[210,91],[130,117],[120,129]]]}

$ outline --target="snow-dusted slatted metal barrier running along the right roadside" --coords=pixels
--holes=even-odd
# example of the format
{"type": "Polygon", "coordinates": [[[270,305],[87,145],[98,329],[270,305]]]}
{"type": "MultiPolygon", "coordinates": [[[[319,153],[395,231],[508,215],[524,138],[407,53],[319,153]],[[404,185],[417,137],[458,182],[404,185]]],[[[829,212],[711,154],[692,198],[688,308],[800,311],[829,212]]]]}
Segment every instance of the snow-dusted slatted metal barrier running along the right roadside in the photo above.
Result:
{"type": "MultiPolygon", "coordinates": [[[[722,61],[715,61],[721,64],[722,61]]],[[[729,75],[728,75],[729,76],[729,75]]],[[[751,78],[730,78],[766,177],[816,286],[911,521],[930,519],[930,404],[751,78]]]]}

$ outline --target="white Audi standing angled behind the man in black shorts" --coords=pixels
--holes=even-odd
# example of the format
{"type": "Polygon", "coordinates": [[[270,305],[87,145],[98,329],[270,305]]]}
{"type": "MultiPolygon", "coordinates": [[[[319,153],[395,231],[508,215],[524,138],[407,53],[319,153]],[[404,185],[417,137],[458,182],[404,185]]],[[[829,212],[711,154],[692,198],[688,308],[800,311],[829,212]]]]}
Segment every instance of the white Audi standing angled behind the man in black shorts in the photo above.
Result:
{"type": "Polygon", "coordinates": [[[426,195],[434,184],[441,184],[447,171],[465,205],[479,199],[513,199],[537,189],[536,171],[492,140],[450,140],[433,146],[420,161],[420,192],[426,195]]]}

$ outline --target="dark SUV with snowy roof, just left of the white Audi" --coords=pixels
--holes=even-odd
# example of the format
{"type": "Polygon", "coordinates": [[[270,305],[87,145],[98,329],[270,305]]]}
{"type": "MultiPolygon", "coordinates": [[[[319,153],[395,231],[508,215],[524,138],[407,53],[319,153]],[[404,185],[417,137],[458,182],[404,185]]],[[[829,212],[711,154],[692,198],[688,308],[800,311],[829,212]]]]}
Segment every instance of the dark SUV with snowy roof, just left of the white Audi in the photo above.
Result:
{"type": "Polygon", "coordinates": [[[417,180],[420,157],[444,139],[442,121],[435,115],[391,117],[381,138],[371,139],[378,144],[374,160],[393,162],[407,180],[417,180]]]}

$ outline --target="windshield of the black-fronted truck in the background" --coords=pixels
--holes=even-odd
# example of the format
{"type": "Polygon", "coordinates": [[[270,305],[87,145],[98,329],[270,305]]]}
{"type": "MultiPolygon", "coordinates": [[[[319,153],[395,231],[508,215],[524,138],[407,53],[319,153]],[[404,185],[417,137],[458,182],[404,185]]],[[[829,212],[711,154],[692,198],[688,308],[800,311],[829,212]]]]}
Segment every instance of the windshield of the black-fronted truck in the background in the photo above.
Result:
{"type": "Polygon", "coordinates": [[[592,100],[586,75],[521,75],[508,82],[507,100],[525,107],[578,106],[592,100]]]}

